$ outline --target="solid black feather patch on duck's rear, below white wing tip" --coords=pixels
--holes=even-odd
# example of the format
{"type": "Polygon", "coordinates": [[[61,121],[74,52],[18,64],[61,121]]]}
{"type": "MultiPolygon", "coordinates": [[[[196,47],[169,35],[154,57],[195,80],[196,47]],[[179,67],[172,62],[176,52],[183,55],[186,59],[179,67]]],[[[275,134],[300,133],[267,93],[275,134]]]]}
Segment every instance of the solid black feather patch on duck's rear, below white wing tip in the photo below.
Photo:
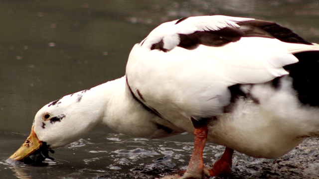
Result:
{"type": "Polygon", "coordinates": [[[301,103],[319,106],[319,51],[294,54],[299,62],[285,66],[301,103]]]}

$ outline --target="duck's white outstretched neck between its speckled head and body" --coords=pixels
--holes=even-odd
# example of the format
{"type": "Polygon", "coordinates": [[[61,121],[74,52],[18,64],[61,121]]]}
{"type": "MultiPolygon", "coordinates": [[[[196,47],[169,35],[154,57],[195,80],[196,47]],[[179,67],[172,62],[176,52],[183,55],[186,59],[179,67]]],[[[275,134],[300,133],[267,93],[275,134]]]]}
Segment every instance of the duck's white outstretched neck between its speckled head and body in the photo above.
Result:
{"type": "MultiPolygon", "coordinates": [[[[145,109],[132,95],[126,77],[74,93],[86,104],[86,118],[91,118],[89,131],[98,124],[136,137],[159,138],[182,132],[179,128],[145,109]]],[[[82,127],[83,130],[83,127],[82,127]]]]}

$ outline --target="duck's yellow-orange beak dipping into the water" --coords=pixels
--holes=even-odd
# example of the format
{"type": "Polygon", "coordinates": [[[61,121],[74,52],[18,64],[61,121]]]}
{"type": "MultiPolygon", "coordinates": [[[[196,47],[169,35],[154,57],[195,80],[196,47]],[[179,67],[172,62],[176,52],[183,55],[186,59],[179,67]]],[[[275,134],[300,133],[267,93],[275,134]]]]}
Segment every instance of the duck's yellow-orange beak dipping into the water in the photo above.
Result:
{"type": "Polygon", "coordinates": [[[31,155],[34,151],[42,146],[40,141],[34,132],[34,126],[32,126],[31,133],[21,147],[10,156],[10,159],[14,161],[22,161],[27,156],[31,155]]]}

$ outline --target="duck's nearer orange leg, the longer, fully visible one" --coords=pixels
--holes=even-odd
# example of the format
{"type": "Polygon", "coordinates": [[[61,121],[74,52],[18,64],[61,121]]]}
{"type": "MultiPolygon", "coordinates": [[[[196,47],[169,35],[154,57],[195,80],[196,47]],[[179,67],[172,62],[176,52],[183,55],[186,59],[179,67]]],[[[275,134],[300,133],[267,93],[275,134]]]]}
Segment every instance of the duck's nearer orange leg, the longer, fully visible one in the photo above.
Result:
{"type": "MultiPolygon", "coordinates": [[[[202,179],[205,175],[204,162],[203,162],[203,150],[207,140],[207,120],[201,119],[199,121],[191,119],[195,127],[194,130],[194,151],[191,155],[190,162],[187,170],[183,175],[183,179],[202,179]]],[[[207,170],[206,170],[207,171],[207,170]]]]}

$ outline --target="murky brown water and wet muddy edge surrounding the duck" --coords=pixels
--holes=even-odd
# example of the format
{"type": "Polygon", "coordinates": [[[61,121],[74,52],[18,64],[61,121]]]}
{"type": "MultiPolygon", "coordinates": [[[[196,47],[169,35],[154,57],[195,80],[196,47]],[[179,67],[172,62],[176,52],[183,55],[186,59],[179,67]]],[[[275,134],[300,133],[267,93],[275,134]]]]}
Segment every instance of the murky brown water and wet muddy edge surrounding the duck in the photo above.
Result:
{"type": "MultiPolygon", "coordinates": [[[[141,139],[97,127],[55,149],[45,167],[5,160],[24,142],[37,110],[65,94],[125,74],[132,46],[161,22],[225,14],[276,21],[319,42],[318,0],[11,0],[0,5],[0,175],[6,179],[152,179],[185,170],[189,134],[141,139]]],[[[235,153],[224,178],[316,178],[318,141],[309,139],[278,160],[235,153]]],[[[223,147],[207,144],[212,164],[223,147]]]]}

